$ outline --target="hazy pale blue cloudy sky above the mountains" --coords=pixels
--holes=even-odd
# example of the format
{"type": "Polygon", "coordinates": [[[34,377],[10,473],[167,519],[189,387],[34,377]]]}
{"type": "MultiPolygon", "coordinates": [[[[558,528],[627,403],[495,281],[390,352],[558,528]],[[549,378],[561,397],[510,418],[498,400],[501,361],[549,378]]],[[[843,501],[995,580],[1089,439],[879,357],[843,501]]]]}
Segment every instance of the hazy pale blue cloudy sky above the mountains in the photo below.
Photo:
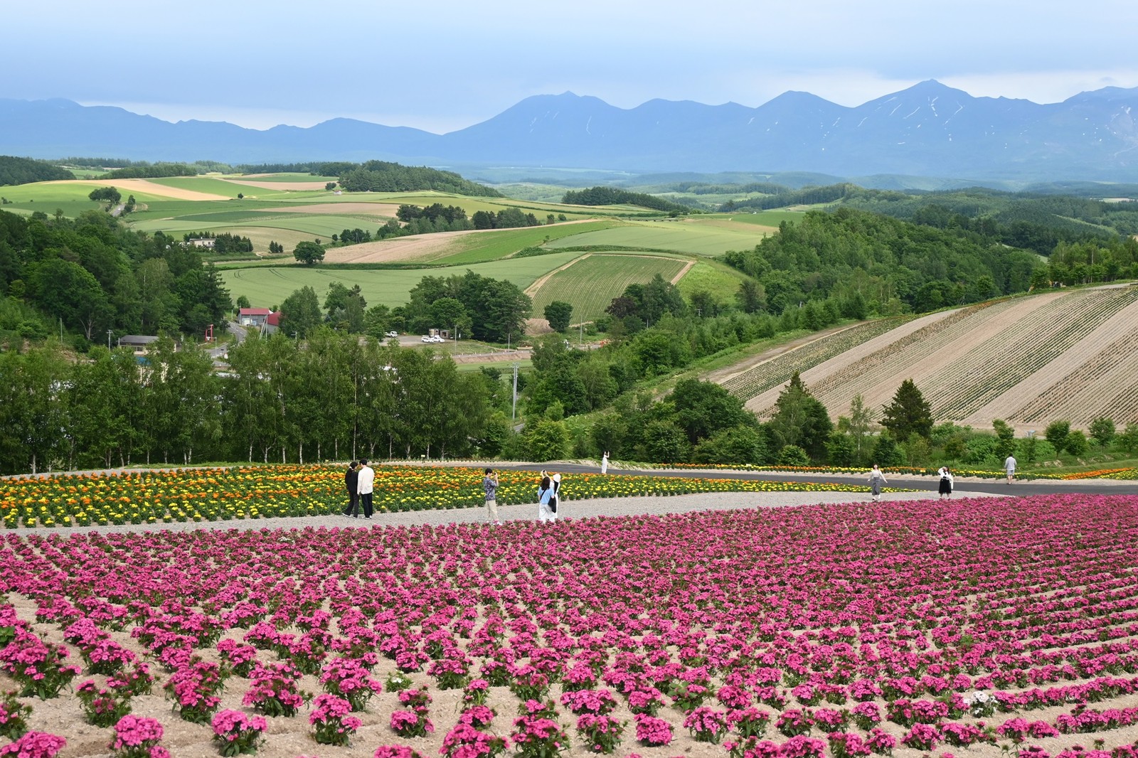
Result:
{"type": "Polygon", "coordinates": [[[1133,0],[5,0],[0,26],[0,97],[255,129],[446,132],[566,90],[632,108],[853,106],[926,79],[1036,102],[1138,86],[1133,0]]]}

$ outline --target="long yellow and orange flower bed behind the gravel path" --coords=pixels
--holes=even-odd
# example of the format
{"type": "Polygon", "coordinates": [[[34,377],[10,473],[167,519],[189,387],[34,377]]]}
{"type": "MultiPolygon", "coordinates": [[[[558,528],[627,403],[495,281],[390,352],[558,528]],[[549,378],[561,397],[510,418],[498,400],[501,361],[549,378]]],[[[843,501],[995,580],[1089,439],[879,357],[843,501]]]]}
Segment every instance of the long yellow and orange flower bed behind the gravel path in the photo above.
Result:
{"type": "MultiPolygon", "coordinates": [[[[528,471],[500,472],[498,503],[535,502],[528,471]]],[[[378,512],[480,506],[483,470],[377,465],[378,512]]],[[[690,477],[566,477],[567,500],[685,495],[706,492],[859,492],[848,484],[803,484],[690,477]]],[[[228,519],[327,516],[345,506],[344,469],[328,465],[264,465],[226,469],[67,475],[0,481],[3,526],[56,527],[92,524],[162,524],[228,519]]]]}

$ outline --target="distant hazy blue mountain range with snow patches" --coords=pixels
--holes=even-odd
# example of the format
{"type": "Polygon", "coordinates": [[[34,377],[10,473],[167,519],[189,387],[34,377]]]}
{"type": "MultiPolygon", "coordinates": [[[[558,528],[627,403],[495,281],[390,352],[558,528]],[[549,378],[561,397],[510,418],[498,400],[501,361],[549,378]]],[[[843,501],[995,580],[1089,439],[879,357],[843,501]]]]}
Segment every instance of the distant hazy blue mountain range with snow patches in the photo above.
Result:
{"type": "Polygon", "coordinates": [[[1135,182],[1136,115],[1138,88],[1039,105],[974,98],[931,80],[855,108],[807,92],[757,108],[650,100],[630,109],[571,92],[542,94],[447,134],[351,118],[258,131],[61,99],[0,99],[0,154],[1135,182]]]}

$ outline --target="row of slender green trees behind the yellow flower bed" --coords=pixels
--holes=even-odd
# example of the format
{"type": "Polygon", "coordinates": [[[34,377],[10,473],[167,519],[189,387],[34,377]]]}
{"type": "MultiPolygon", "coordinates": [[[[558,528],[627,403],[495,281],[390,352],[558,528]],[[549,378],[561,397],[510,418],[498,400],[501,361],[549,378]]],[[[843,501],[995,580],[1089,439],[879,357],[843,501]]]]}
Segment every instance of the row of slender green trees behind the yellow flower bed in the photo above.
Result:
{"type": "Polygon", "coordinates": [[[57,344],[0,353],[0,472],[464,455],[504,398],[502,382],[448,357],[328,329],[254,336],[229,361],[216,373],[207,353],[167,338],[141,359],[97,347],[74,361],[57,344]]]}

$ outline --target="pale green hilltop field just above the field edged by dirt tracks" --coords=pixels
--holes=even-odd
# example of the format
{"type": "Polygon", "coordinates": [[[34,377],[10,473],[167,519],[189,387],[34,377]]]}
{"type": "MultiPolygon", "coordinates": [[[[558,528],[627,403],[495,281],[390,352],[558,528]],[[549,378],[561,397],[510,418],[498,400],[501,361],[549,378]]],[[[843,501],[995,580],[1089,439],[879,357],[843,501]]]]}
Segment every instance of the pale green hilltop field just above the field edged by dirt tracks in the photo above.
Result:
{"type": "Polygon", "coordinates": [[[716,226],[702,221],[633,221],[613,229],[554,240],[549,247],[599,245],[716,256],[727,250],[752,248],[761,240],[759,231],[716,226]]]}

